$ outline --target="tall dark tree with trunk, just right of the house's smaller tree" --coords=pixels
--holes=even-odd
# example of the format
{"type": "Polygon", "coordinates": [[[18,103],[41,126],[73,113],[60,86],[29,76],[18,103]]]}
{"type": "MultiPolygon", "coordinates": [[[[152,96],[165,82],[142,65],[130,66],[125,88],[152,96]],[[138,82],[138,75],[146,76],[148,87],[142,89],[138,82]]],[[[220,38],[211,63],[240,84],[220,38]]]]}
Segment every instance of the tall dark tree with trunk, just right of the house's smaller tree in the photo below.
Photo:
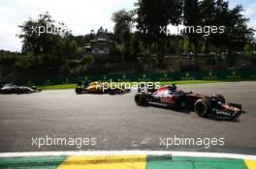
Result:
{"type": "Polygon", "coordinates": [[[167,26],[181,22],[182,0],[139,0],[136,6],[137,28],[143,34],[144,43],[155,47],[157,63],[161,66],[167,26]]]}

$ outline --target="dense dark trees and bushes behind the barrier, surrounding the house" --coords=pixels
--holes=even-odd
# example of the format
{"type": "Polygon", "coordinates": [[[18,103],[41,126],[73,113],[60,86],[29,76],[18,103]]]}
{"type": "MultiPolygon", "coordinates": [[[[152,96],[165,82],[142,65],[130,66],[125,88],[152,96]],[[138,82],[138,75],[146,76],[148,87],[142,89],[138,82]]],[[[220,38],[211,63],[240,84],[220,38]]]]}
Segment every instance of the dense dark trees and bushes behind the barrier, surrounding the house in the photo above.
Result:
{"type": "MultiPolygon", "coordinates": [[[[4,81],[76,77],[138,71],[251,68],[255,57],[254,30],[247,26],[242,7],[231,9],[224,0],[139,0],[132,11],[112,14],[113,31],[100,27],[74,36],[50,14],[39,14],[18,25],[21,52],[0,51],[4,81]],[[203,28],[196,33],[168,34],[168,25],[203,28]],[[206,36],[205,28],[223,27],[206,36]],[[50,31],[49,29],[50,28],[50,31]],[[104,34],[108,54],[86,50],[104,34]],[[176,62],[178,67],[176,67],[176,62]]],[[[211,31],[215,28],[211,28],[211,31]]]]}

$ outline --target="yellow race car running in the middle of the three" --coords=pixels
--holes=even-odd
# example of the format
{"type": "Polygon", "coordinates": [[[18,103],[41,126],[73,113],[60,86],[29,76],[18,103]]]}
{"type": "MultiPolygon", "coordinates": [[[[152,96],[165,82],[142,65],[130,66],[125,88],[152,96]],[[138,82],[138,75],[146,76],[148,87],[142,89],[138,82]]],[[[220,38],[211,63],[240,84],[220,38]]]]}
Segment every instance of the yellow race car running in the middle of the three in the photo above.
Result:
{"type": "Polygon", "coordinates": [[[77,94],[125,94],[130,92],[130,89],[125,89],[124,86],[115,86],[111,88],[108,83],[94,81],[94,82],[79,82],[76,88],[77,94]]]}

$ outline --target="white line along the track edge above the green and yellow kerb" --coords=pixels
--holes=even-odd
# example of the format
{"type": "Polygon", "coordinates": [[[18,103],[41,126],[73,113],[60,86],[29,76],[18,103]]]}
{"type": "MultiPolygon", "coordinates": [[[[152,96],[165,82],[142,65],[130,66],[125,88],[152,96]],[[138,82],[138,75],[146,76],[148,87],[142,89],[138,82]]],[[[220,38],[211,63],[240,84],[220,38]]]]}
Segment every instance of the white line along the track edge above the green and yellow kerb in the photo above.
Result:
{"type": "Polygon", "coordinates": [[[93,152],[23,152],[23,153],[1,153],[0,157],[19,156],[50,156],[50,155],[173,155],[173,156],[195,156],[195,157],[220,157],[240,158],[256,160],[256,155],[219,154],[201,152],[168,152],[168,151],[93,151],[93,152]]]}

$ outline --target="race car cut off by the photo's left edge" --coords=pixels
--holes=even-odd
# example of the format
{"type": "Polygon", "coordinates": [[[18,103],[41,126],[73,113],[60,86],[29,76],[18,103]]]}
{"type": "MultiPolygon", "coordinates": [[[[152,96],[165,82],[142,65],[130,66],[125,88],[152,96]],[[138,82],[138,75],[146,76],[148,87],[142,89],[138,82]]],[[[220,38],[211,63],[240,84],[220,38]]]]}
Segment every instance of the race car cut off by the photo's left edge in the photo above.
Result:
{"type": "Polygon", "coordinates": [[[38,89],[36,86],[17,86],[13,83],[5,84],[2,88],[0,88],[0,94],[32,94],[41,91],[42,90],[38,89]]]}

